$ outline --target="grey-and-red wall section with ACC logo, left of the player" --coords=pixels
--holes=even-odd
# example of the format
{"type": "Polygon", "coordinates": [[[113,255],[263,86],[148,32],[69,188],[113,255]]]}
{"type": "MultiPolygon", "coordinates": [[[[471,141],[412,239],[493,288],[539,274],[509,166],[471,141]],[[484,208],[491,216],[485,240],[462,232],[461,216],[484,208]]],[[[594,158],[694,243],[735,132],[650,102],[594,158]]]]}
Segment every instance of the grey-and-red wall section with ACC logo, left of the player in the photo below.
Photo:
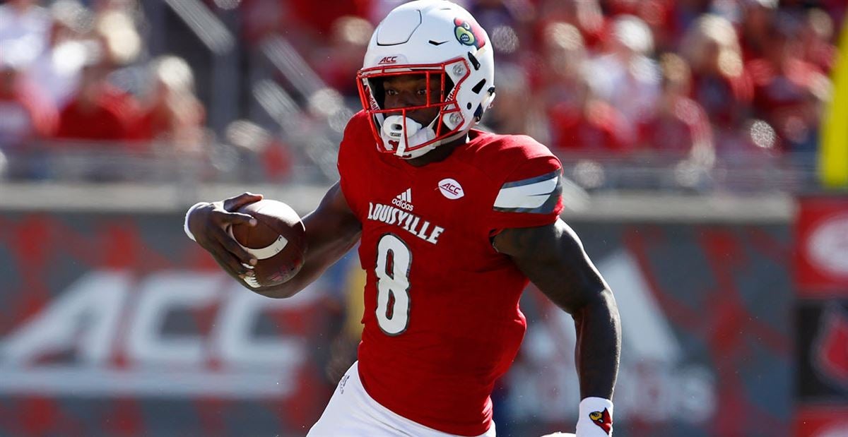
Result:
{"type": "Polygon", "coordinates": [[[326,283],[257,296],[176,214],[2,213],[0,278],[0,435],[297,435],[332,394],[326,283]]]}

